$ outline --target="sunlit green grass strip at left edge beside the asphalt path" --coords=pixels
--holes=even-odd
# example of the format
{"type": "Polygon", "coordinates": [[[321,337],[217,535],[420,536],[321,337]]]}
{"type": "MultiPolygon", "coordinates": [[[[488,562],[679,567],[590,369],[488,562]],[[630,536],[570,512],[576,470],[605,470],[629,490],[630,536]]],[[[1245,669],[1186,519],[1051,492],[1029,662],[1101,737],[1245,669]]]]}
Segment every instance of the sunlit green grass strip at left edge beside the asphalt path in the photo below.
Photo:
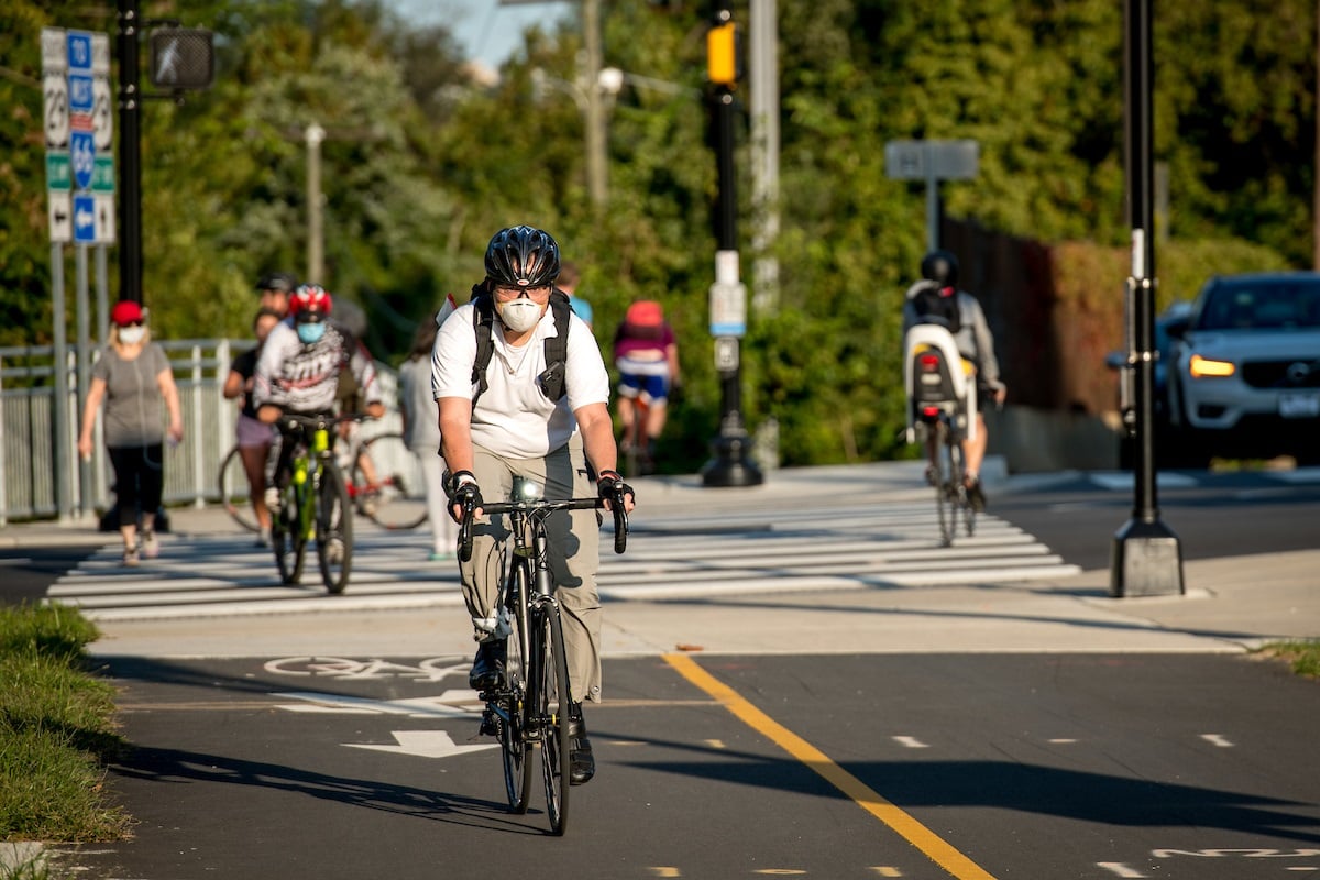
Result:
{"type": "Polygon", "coordinates": [[[75,610],[0,607],[0,840],[114,840],[128,830],[104,789],[125,743],[115,691],[90,672],[86,646],[98,635],[75,610]]]}

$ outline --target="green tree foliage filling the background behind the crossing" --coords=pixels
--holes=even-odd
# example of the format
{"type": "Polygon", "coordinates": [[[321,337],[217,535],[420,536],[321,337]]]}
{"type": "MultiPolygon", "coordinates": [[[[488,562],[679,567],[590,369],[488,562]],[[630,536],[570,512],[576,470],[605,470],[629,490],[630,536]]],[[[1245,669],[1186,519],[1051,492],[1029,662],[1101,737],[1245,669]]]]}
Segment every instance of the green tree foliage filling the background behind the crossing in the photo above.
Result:
{"type": "MultiPolygon", "coordinates": [[[[747,4],[734,7],[746,25],[747,4]]],[[[466,298],[491,232],[545,226],[583,267],[606,352],[628,302],[664,302],[685,384],[663,454],[676,470],[700,466],[721,408],[708,331],[709,8],[606,0],[602,12],[605,63],[639,75],[609,99],[603,210],[587,194],[572,4],[523,34],[492,84],[446,26],[409,28],[383,0],[143,0],[144,16],[213,28],[219,53],[214,88],[141,113],[144,296],[158,332],[242,335],[257,273],[305,273],[315,123],[327,132],[319,280],[363,306],[378,356],[397,360],[446,292],[466,298]]],[[[1155,15],[1155,158],[1168,166],[1172,236],[1162,297],[1191,296],[1214,270],[1304,265],[1315,5],[1167,0],[1155,15]]],[[[0,344],[49,342],[51,326],[44,25],[115,28],[75,0],[0,4],[0,344]]],[[[1121,253],[1122,8],[814,0],[780,3],[777,25],[780,235],[764,255],[750,244],[744,119],[737,146],[742,276],[752,285],[763,256],[779,268],[774,305],[751,313],[743,340],[744,420],[779,421],[785,463],[900,455],[899,306],[925,249],[925,201],[921,183],[887,177],[884,144],[974,139],[977,179],[941,187],[949,215],[1121,253]]],[[[735,92],[741,111],[750,86],[735,92]]],[[[1065,281],[1085,296],[1088,278],[1065,281]]],[[[1114,296],[1107,273],[1089,286],[1114,296]]]]}

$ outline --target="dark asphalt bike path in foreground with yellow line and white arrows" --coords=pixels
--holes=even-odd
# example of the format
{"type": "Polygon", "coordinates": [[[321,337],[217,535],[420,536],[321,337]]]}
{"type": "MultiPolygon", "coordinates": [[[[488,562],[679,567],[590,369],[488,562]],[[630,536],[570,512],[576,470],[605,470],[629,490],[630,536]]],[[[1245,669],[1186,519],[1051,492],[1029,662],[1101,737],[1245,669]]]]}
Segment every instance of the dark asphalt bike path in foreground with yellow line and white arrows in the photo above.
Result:
{"type": "Polygon", "coordinates": [[[1221,654],[614,658],[564,839],[503,803],[467,657],[117,658],[135,839],[78,876],[1320,872],[1313,682],[1221,654]],[[487,747],[487,748],[482,748],[487,747]]]}

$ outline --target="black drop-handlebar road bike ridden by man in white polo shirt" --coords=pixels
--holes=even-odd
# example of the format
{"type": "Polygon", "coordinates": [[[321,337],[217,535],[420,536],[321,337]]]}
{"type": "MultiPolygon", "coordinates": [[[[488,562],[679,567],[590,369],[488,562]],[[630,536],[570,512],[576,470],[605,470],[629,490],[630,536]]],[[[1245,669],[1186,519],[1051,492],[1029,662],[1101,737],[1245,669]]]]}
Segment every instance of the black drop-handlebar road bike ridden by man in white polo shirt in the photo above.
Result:
{"type": "MultiPolygon", "coordinates": [[[[524,814],[529,807],[532,749],[540,748],[550,833],[562,835],[569,815],[573,694],[545,521],[557,511],[601,508],[605,501],[599,497],[548,501],[540,495],[541,487],[535,482],[515,478],[510,501],[482,504],[487,516],[507,516],[512,534],[506,545],[496,603],[512,631],[506,643],[503,681],[480,693],[486,701],[482,731],[499,738],[504,792],[512,813],[524,814]]],[[[623,553],[628,516],[622,492],[611,499],[611,508],[614,551],[623,553]]],[[[466,562],[471,554],[473,507],[469,505],[459,524],[458,557],[466,562]]]]}

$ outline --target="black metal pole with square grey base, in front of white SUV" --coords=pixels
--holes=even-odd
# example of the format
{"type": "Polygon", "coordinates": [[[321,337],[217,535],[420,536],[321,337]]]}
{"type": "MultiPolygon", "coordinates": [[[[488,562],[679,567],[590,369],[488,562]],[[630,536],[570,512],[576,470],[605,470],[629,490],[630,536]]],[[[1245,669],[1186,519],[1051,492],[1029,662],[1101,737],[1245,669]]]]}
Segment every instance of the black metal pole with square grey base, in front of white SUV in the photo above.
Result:
{"type": "Polygon", "coordinates": [[[1126,0],[1126,158],[1127,210],[1133,230],[1133,272],[1127,278],[1127,368],[1134,371],[1137,435],[1133,462],[1133,519],[1114,534],[1110,592],[1114,596],[1183,592],[1183,557],[1177,536],[1160,521],[1155,482],[1155,224],[1151,103],[1152,0],[1126,0]]]}

